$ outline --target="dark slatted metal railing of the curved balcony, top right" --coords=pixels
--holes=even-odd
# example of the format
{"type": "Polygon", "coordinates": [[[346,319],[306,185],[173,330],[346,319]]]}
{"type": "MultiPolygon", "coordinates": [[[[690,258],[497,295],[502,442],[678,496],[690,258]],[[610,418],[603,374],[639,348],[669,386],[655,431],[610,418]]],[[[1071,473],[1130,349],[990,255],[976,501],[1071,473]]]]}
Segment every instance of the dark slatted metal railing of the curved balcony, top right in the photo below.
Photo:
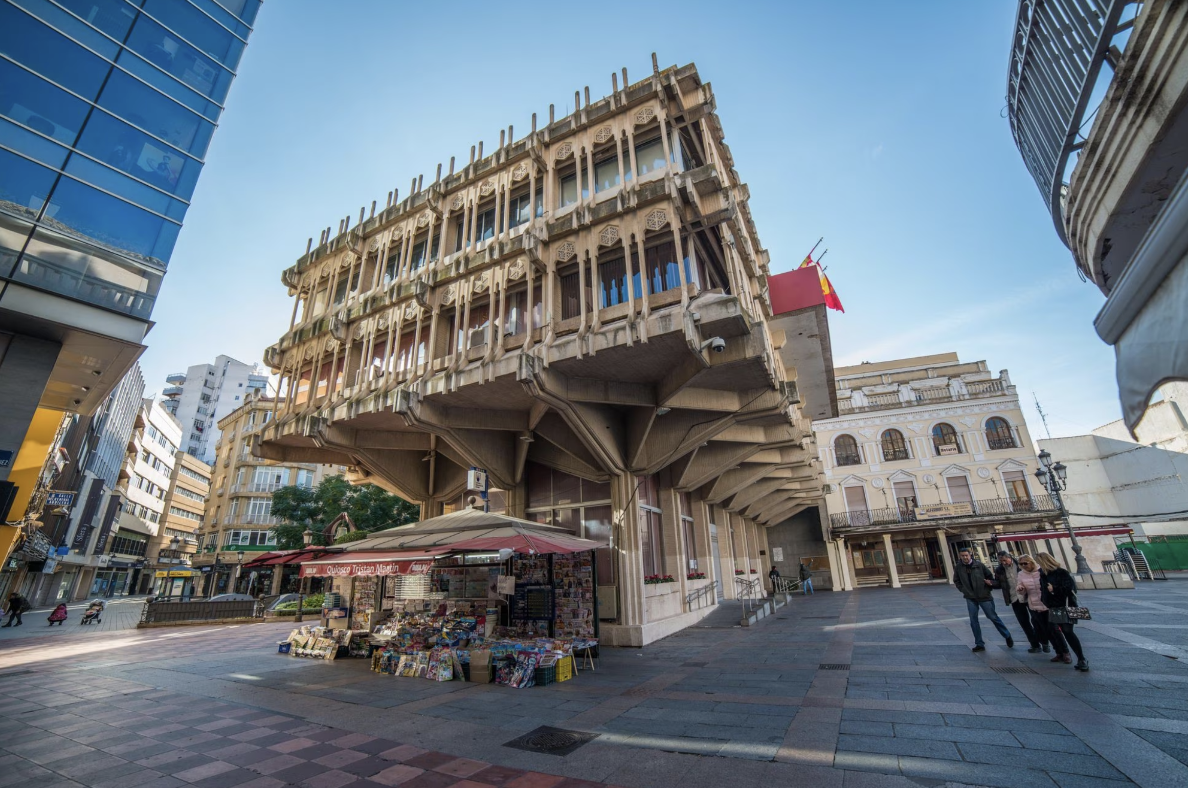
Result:
{"type": "Polygon", "coordinates": [[[1006,84],[1006,111],[1023,163],[1060,239],[1069,158],[1085,144],[1085,114],[1126,0],[1022,0],[1006,84]]]}

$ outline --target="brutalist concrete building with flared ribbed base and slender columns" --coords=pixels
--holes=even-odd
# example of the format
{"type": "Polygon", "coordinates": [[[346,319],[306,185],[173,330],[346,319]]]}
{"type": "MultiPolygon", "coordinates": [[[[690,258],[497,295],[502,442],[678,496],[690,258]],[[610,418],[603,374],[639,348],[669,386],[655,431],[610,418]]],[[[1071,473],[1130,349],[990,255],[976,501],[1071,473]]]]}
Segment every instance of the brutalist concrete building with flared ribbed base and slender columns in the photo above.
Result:
{"type": "Polygon", "coordinates": [[[767,527],[821,503],[810,420],[834,393],[816,275],[773,309],[709,84],[653,63],[611,87],[284,271],[255,450],[348,466],[423,517],[485,469],[492,509],[607,543],[601,638],[628,645],[765,575],[767,527]]]}

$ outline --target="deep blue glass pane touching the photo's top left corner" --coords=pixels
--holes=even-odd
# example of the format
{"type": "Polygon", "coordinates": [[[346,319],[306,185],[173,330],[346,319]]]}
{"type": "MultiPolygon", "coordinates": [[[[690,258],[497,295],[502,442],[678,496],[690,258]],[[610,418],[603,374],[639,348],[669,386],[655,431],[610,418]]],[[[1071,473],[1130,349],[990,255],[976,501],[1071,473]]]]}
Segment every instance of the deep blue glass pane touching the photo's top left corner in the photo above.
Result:
{"type": "Polygon", "coordinates": [[[102,58],[8,4],[0,4],[0,52],[86,99],[95,97],[110,68],[102,58]]]}

